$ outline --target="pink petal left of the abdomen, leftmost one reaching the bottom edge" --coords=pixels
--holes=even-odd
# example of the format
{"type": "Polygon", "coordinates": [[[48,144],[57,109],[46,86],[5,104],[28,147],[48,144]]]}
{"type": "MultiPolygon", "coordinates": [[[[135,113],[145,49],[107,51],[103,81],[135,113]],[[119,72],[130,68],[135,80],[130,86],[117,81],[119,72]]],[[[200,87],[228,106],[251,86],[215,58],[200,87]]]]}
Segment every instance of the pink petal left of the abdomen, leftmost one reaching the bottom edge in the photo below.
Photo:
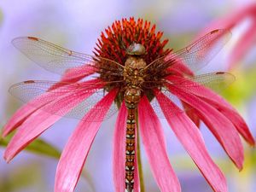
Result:
{"type": "Polygon", "coordinates": [[[84,166],[90,146],[96,137],[96,133],[108,112],[117,90],[111,90],[98,102],[95,108],[80,121],[73,135],[68,139],[59,161],[55,176],[55,192],[72,192],[78,183],[80,173],[84,166]],[[101,110],[98,110],[101,108],[101,110]],[[90,122],[88,119],[102,119],[102,121],[90,122]]]}

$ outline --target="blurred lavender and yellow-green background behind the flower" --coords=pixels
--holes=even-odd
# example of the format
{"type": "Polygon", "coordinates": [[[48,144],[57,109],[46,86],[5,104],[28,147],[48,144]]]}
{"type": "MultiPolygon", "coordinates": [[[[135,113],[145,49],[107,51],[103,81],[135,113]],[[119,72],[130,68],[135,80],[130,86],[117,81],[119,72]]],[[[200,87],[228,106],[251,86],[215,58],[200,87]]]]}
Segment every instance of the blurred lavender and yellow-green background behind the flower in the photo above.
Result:
{"type": "MultiPolygon", "coordinates": [[[[235,13],[250,0],[143,0],[143,1],[50,1],[50,0],[1,0],[0,2],[0,125],[11,117],[22,103],[9,96],[8,89],[27,79],[58,80],[60,77],[44,71],[15,49],[10,43],[13,38],[33,36],[59,44],[68,49],[92,54],[96,39],[113,20],[134,16],[150,20],[169,38],[167,47],[183,48],[195,39],[212,21],[235,13]]],[[[251,6],[255,6],[252,4],[251,6]]],[[[256,12],[256,11],[255,11],[256,12]]],[[[256,13],[254,15],[256,18],[256,13]]],[[[254,19],[256,22],[256,19],[254,19]]],[[[228,57],[247,30],[248,20],[241,20],[231,29],[233,36],[223,51],[199,73],[228,70],[228,57]]],[[[256,29],[255,29],[256,33],[256,29]]],[[[256,46],[253,44],[231,73],[236,74],[236,82],[224,96],[246,119],[253,136],[256,136],[256,46]],[[254,46],[253,46],[254,45],[254,46]]],[[[90,154],[85,163],[83,177],[79,179],[76,192],[112,192],[112,138],[116,116],[102,124],[90,154]]],[[[42,135],[45,142],[60,151],[67,142],[78,120],[61,119],[42,135]]],[[[165,125],[165,122],[163,121],[165,125]]],[[[165,127],[168,153],[172,166],[177,172],[183,192],[210,192],[204,177],[197,170],[189,155],[178,143],[172,131],[165,127]]],[[[213,160],[221,167],[228,180],[230,192],[255,192],[256,152],[245,147],[244,169],[238,172],[228,159],[218,142],[201,125],[207,148],[213,160]]],[[[142,149],[143,150],[143,149],[142,149]]],[[[4,147],[0,146],[0,192],[45,192],[53,191],[55,169],[58,160],[44,155],[21,152],[15,160],[7,164],[3,160],[4,147]]],[[[159,192],[149,169],[148,160],[142,151],[143,172],[146,191],[159,192]]]]}

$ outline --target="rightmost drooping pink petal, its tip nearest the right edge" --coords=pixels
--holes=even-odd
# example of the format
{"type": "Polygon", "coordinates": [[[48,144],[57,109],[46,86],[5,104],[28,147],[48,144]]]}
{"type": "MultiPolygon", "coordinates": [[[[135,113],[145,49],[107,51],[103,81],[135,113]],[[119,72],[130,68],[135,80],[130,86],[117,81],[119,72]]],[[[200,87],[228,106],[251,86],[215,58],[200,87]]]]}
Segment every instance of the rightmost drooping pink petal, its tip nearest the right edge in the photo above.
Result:
{"type": "Polygon", "coordinates": [[[247,143],[252,146],[255,145],[255,141],[252,133],[249,131],[249,128],[241,117],[241,115],[233,108],[229,102],[225,101],[223,97],[214,93],[212,90],[207,89],[201,84],[196,84],[195,82],[186,79],[179,78],[177,76],[172,76],[169,78],[172,82],[179,82],[179,87],[186,89],[190,93],[193,93],[195,96],[200,96],[204,101],[211,104],[214,108],[217,108],[220,113],[223,113],[230,121],[236,126],[236,130],[239,131],[241,136],[247,141],[247,143]],[[184,85],[185,84],[185,85],[184,85]]]}

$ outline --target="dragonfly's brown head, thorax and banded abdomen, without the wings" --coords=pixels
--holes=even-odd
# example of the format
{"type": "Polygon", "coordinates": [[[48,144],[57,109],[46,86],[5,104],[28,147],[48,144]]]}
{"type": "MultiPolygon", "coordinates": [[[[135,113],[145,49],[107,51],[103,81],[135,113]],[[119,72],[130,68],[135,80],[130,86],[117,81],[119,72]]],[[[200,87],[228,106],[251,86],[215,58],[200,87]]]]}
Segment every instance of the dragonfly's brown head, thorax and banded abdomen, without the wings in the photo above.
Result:
{"type": "Polygon", "coordinates": [[[144,82],[143,69],[147,66],[140,55],[144,55],[145,48],[142,44],[131,44],[126,50],[129,55],[125,61],[125,105],[128,109],[126,121],[126,146],[125,146],[125,192],[133,192],[134,187],[134,167],[136,154],[136,111],[137,105],[142,96],[142,84],[144,82]]]}

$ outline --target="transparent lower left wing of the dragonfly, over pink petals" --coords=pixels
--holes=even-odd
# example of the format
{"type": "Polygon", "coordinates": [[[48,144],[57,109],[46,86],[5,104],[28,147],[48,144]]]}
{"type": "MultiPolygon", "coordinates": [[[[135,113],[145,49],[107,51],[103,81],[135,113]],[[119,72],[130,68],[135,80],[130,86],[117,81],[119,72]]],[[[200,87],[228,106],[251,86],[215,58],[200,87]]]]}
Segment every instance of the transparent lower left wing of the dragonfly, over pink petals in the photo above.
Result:
{"type": "MultiPolygon", "coordinates": [[[[98,83],[65,83],[55,81],[29,80],[14,84],[10,87],[11,95],[22,102],[26,102],[32,108],[44,110],[59,116],[74,119],[83,119],[84,114],[90,109],[100,112],[101,108],[95,108],[103,96],[107,94],[102,89],[103,84],[98,83]],[[58,84],[57,87],[55,85],[58,84]]],[[[113,104],[108,110],[105,119],[116,113],[118,108],[113,104]]],[[[101,121],[102,119],[88,119],[89,121],[101,121]]]]}

